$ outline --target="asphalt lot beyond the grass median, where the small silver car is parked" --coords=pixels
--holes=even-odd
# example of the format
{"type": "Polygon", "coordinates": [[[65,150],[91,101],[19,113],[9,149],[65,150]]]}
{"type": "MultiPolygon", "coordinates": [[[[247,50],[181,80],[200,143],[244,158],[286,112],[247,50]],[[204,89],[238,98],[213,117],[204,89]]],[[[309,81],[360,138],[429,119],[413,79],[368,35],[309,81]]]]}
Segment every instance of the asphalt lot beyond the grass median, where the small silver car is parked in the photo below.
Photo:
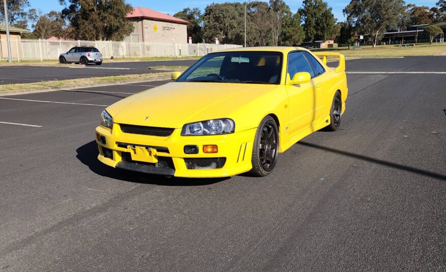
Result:
{"type": "Polygon", "coordinates": [[[197,59],[113,63],[107,63],[107,61],[104,61],[100,66],[94,64],[90,64],[88,66],[75,64],[60,64],[55,66],[0,66],[0,85],[87,77],[156,73],[160,71],[147,68],[153,66],[190,66],[196,61],[197,59]]]}

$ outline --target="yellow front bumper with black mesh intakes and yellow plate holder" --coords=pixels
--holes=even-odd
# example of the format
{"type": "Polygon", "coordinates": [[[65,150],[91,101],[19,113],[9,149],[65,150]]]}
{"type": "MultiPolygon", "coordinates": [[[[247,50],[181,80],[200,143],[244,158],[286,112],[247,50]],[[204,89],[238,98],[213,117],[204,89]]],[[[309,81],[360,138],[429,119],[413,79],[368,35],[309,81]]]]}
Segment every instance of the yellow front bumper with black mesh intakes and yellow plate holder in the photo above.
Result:
{"type": "Polygon", "coordinates": [[[175,129],[171,136],[156,137],[124,133],[114,124],[113,130],[97,127],[96,142],[99,161],[111,167],[178,177],[225,177],[252,168],[255,134],[256,128],[227,135],[181,136],[181,129],[175,129]],[[199,153],[185,154],[185,145],[197,145],[199,153]],[[203,145],[217,145],[218,152],[204,153],[203,145]],[[155,155],[134,160],[136,148],[141,147],[155,155]]]}

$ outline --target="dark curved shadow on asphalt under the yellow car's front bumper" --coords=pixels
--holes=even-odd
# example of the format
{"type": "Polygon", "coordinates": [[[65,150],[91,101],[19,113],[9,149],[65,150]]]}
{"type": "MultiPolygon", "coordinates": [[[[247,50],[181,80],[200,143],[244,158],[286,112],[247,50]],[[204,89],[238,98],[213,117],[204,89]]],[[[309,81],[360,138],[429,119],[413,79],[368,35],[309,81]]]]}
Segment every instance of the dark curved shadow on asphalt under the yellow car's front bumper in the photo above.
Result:
{"type": "Polygon", "coordinates": [[[76,149],[76,158],[83,164],[87,165],[94,173],[114,179],[123,180],[125,182],[154,184],[161,186],[206,186],[222,182],[230,179],[230,177],[221,178],[180,178],[165,177],[159,175],[151,175],[146,173],[138,173],[116,169],[104,165],[98,160],[98,145],[96,141],[86,143],[76,149]]]}

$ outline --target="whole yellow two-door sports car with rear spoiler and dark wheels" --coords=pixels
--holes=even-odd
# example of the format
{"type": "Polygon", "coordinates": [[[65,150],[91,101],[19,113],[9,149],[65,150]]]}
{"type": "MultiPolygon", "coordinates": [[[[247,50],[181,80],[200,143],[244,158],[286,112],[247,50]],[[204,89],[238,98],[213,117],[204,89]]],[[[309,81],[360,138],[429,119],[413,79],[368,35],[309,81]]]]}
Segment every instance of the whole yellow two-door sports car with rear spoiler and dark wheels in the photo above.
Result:
{"type": "Polygon", "coordinates": [[[295,142],[336,131],[348,93],[342,54],[300,47],[216,51],[172,79],[102,112],[99,161],[181,177],[265,176],[295,142]]]}

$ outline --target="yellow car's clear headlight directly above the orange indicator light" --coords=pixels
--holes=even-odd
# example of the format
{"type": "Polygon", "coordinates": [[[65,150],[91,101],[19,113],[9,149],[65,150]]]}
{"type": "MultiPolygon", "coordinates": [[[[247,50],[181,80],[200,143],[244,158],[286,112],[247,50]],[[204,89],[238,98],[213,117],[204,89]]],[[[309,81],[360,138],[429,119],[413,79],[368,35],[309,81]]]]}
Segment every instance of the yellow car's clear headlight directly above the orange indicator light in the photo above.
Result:
{"type": "Polygon", "coordinates": [[[234,133],[234,129],[231,119],[213,119],[184,125],[181,136],[229,134],[234,133]]]}

